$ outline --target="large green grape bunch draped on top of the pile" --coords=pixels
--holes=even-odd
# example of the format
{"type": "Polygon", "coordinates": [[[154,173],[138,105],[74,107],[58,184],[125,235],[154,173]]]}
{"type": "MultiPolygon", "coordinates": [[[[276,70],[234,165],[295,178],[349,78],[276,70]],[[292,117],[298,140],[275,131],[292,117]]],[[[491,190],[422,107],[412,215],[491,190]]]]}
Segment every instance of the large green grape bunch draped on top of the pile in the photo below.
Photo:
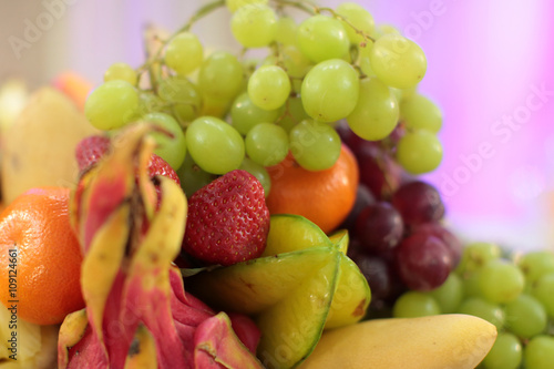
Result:
{"type": "Polygon", "coordinates": [[[157,41],[138,68],[117,62],[106,70],[85,115],[106,132],[137,121],[170,131],[154,137],[156,153],[178,173],[197,175],[195,187],[244,167],[269,191],[266,168],[288,154],[308,171],[327,170],[343,144],[340,122],[387,143],[411,174],[441,163],[441,111],[417,92],[423,50],[356,2],[332,9],[306,0],[215,0],[157,41]],[[194,30],[220,8],[236,52],[212,50],[194,30]],[[399,126],[403,134],[390,140],[399,126]]]}

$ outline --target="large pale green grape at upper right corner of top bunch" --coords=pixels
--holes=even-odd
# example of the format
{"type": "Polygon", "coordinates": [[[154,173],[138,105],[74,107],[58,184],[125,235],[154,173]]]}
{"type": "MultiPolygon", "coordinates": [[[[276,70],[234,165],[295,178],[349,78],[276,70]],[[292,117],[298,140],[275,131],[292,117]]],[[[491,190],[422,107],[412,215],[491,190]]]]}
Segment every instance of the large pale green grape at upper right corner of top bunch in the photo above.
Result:
{"type": "Polygon", "coordinates": [[[377,78],[397,89],[417,85],[427,71],[423,50],[416,42],[396,33],[377,39],[369,52],[369,61],[377,78]]]}

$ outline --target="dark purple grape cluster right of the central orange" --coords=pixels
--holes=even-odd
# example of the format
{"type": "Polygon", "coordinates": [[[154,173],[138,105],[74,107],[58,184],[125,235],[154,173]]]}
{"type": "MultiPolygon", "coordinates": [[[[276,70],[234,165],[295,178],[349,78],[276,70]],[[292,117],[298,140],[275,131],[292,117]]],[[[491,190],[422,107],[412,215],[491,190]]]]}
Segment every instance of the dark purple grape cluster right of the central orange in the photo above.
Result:
{"type": "Polygon", "coordinates": [[[356,204],[342,224],[350,235],[348,253],[369,281],[377,314],[408,289],[441,286],[460,262],[462,244],[443,224],[444,204],[437,188],[409,175],[393,158],[401,125],[376,142],[359,139],[342,124],[337,131],[360,170],[356,204]]]}

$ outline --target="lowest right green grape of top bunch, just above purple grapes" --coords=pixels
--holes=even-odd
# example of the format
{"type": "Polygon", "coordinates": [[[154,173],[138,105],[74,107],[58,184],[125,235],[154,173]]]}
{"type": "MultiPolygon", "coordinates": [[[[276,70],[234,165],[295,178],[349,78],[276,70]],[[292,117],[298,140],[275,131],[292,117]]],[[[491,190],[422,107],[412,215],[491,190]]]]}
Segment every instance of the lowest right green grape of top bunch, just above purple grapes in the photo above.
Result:
{"type": "Polygon", "coordinates": [[[411,174],[429,173],[442,161],[442,145],[432,132],[409,131],[398,142],[397,158],[411,174]]]}

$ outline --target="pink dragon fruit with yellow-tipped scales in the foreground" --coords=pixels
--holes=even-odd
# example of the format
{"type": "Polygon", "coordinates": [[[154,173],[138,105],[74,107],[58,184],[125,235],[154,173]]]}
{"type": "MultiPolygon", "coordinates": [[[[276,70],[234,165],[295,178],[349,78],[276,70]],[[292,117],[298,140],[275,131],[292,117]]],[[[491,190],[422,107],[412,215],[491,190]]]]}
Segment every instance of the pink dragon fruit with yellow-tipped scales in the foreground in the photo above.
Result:
{"type": "Polygon", "coordinates": [[[249,318],[233,319],[247,348],[226,312],[184,289],[173,260],[186,197],[174,181],[158,176],[156,208],[147,174],[152,130],[127,129],[117,150],[83,173],[72,195],[86,307],[61,326],[59,368],[263,368],[253,353],[259,331],[249,318]]]}

